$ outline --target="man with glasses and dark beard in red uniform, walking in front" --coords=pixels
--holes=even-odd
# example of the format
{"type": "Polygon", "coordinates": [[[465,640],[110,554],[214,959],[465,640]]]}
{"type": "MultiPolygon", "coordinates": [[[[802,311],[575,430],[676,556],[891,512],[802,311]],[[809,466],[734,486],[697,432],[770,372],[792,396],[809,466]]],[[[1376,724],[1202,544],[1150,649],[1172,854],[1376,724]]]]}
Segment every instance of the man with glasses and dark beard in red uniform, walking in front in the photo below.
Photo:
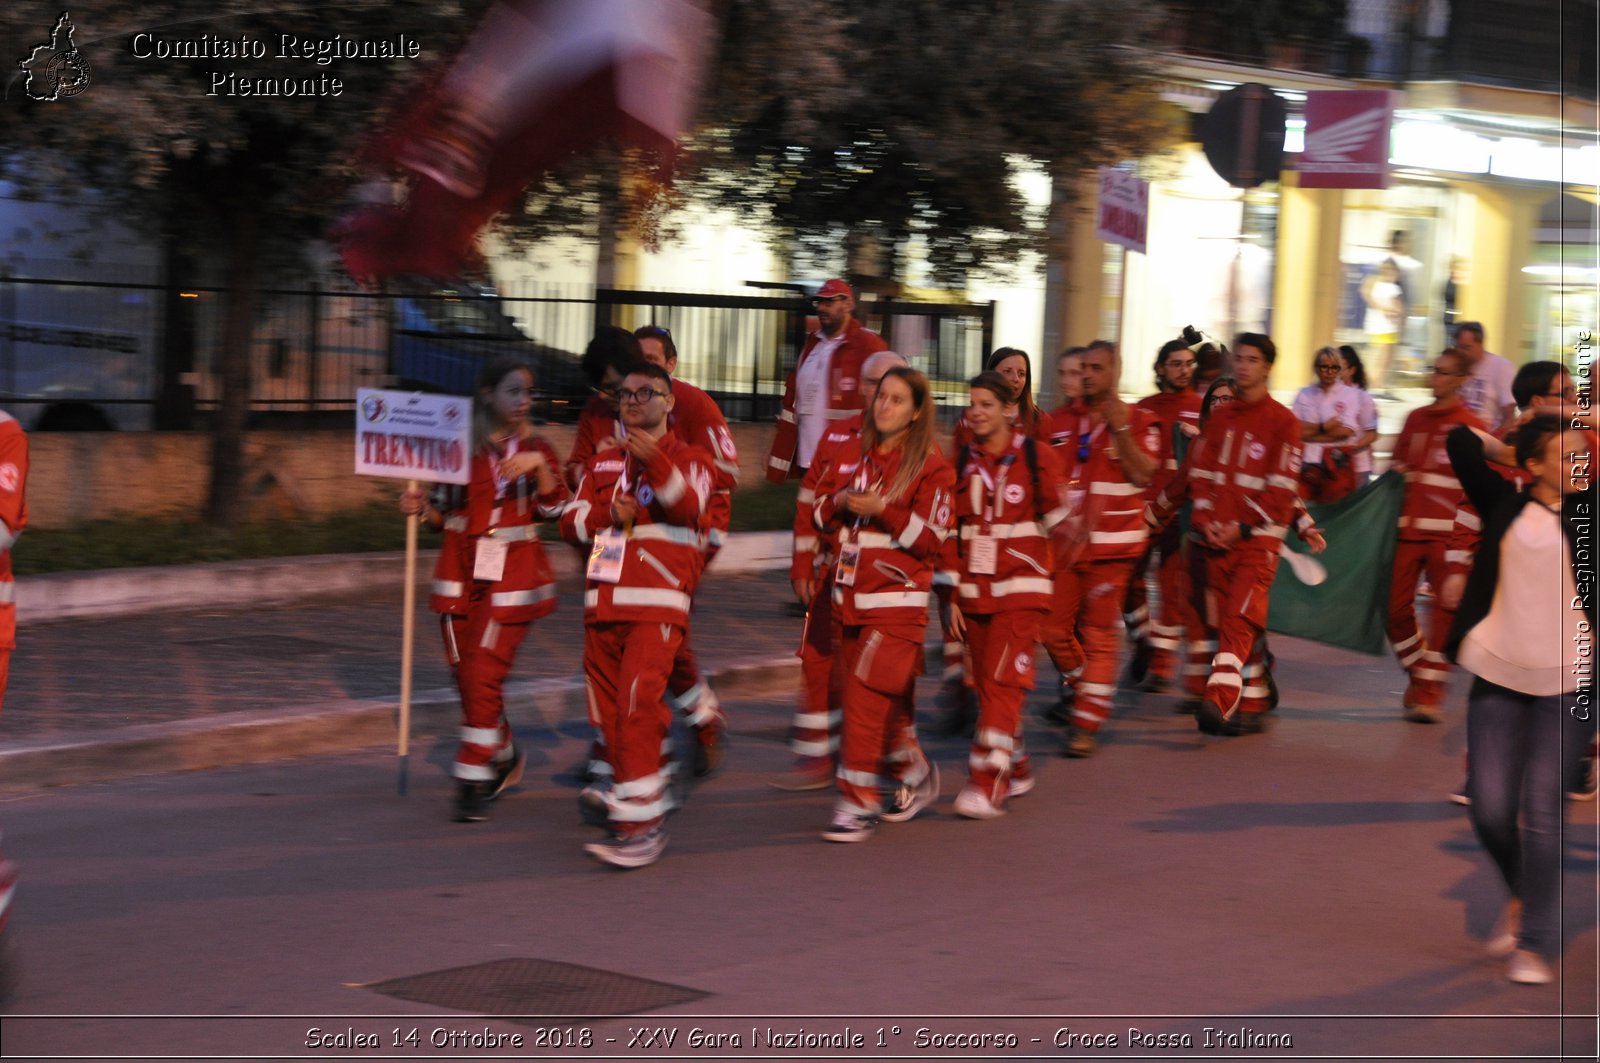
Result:
{"type": "Polygon", "coordinates": [[[611,834],[584,848],[602,863],[642,868],[667,844],[662,768],[672,714],[662,695],[706,565],[715,463],[667,429],[672,376],[664,368],[632,367],[618,397],[627,437],[589,459],[562,536],[590,546],[584,679],[613,770],[611,834]]]}

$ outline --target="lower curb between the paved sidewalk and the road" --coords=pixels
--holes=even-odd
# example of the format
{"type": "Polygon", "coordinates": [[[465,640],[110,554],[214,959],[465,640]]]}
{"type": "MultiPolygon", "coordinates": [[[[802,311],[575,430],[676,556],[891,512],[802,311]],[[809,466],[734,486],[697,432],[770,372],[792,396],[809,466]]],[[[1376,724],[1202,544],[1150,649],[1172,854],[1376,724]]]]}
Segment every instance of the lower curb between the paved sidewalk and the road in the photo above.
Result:
{"type": "MultiPolygon", "coordinates": [[[[787,564],[787,559],[786,562],[787,564]]],[[[725,698],[792,692],[797,658],[730,664],[706,677],[725,698]]],[[[506,684],[518,727],[555,730],[589,722],[582,679],[506,684]]],[[[0,792],[98,783],[133,775],[202,772],[317,752],[347,752],[397,741],[398,701],[342,701],[280,712],[238,712],[202,720],[142,724],[93,738],[34,741],[0,749],[0,792]]],[[[411,736],[450,738],[459,724],[456,692],[413,693],[411,736]]]]}

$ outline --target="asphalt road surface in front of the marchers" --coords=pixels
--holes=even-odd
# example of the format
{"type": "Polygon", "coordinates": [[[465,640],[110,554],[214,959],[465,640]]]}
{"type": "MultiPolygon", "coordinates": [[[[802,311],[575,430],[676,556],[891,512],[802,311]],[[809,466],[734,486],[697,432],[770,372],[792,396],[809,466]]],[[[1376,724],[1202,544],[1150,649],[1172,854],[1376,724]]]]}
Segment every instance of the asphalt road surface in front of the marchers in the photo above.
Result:
{"type": "Polygon", "coordinates": [[[405,797],[390,748],[11,792],[0,1055],[1594,1058],[1597,805],[1571,807],[1560,980],[1514,986],[1445,800],[1459,690],[1411,725],[1389,661],[1274,648],[1267,735],[1134,695],[992,823],[950,815],[966,751],[934,740],[944,800],[862,845],[818,839],[827,794],[765,784],[789,700],[736,703],[728,767],[632,872],[581,852],[574,727],[523,733],[480,824],[446,818],[446,738],[405,797]]]}

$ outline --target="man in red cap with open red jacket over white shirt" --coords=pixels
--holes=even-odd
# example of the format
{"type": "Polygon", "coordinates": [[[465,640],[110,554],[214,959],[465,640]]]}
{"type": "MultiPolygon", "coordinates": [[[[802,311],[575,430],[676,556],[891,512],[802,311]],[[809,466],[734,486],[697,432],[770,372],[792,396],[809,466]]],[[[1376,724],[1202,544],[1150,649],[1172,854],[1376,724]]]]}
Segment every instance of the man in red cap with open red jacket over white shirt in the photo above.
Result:
{"type": "Polygon", "coordinates": [[[856,298],[843,280],[835,277],[818,288],[811,306],[818,330],[784,381],[784,408],[766,451],[766,479],[773,483],[805,477],[829,421],[862,410],[861,367],[867,355],[888,347],[853,317],[856,298]]]}

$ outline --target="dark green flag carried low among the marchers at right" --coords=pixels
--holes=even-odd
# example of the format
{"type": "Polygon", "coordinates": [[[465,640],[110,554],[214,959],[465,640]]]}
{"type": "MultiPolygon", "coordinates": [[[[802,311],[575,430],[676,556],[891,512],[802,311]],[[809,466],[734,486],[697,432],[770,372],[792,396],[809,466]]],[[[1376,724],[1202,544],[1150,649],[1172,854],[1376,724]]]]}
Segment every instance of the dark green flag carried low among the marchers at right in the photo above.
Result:
{"type": "MultiPolygon", "coordinates": [[[[1312,560],[1326,568],[1328,578],[1309,586],[1293,565],[1280,564],[1267,607],[1267,631],[1387,656],[1389,578],[1403,498],[1405,479],[1384,472],[1349,498],[1309,506],[1328,538],[1328,549],[1312,560]]],[[[1293,533],[1285,546],[1310,557],[1293,533]]]]}

